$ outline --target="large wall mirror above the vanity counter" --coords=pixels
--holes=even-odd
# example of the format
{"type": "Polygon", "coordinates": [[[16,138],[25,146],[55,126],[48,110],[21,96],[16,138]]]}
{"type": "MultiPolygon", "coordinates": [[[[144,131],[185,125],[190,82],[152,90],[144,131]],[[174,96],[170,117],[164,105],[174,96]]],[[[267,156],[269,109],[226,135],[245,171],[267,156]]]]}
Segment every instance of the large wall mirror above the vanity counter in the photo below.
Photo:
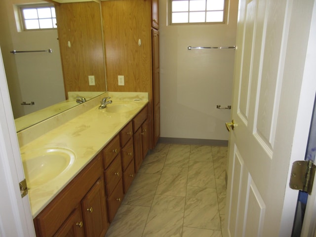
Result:
{"type": "Polygon", "coordinates": [[[88,100],[106,91],[100,3],[57,3],[57,29],[25,31],[19,6],[34,3],[47,4],[0,1],[0,46],[17,132],[79,105],[77,96],[88,100]]]}

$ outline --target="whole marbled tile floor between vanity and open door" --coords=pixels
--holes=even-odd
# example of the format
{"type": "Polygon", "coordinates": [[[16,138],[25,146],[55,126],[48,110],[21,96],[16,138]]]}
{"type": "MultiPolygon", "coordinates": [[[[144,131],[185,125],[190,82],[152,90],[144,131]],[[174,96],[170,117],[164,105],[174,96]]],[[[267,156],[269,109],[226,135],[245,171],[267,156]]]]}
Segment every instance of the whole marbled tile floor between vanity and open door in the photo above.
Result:
{"type": "Polygon", "coordinates": [[[227,147],[159,143],[106,237],[222,237],[227,147]]]}

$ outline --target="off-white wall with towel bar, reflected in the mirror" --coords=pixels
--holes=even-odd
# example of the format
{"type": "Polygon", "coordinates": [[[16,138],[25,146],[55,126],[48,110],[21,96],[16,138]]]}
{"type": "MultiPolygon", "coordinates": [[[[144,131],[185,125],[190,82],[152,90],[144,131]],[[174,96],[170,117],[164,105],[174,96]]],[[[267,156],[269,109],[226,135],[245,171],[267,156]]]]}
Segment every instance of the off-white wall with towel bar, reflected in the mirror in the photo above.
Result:
{"type": "Polygon", "coordinates": [[[19,32],[14,4],[40,0],[0,1],[0,45],[10,91],[14,118],[32,113],[65,100],[57,30],[19,32]],[[10,51],[46,50],[53,53],[17,53],[10,51]],[[21,102],[34,101],[34,106],[21,102]]]}

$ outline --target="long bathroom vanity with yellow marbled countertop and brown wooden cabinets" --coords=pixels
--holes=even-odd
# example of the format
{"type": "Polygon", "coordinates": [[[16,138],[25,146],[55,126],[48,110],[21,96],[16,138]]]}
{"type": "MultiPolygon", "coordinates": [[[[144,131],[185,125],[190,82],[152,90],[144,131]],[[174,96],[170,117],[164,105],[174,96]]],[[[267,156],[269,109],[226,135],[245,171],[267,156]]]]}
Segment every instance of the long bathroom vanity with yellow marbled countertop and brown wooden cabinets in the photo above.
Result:
{"type": "Polygon", "coordinates": [[[90,106],[86,112],[31,142],[23,142],[24,135],[18,134],[24,163],[33,151],[49,155],[64,149],[75,154],[51,180],[42,176],[43,182],[36,182],[26,174],[37,236],[105,236],[149,150],[146,96],[107,93],[113,100],[109,110],[98,109],[101,95],[90,105],[78,106],[90,106]]]}

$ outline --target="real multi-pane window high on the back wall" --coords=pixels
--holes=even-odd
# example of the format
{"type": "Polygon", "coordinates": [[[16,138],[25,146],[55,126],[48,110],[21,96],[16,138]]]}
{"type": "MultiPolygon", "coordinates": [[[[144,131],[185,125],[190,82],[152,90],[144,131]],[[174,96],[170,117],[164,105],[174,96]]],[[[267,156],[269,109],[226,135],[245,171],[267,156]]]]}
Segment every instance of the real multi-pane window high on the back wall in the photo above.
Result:
{"type": "Polygon", "coordinates": [[[225,22],[226,0],[170,0],[170,23],[225,22]]]}

